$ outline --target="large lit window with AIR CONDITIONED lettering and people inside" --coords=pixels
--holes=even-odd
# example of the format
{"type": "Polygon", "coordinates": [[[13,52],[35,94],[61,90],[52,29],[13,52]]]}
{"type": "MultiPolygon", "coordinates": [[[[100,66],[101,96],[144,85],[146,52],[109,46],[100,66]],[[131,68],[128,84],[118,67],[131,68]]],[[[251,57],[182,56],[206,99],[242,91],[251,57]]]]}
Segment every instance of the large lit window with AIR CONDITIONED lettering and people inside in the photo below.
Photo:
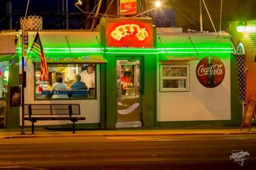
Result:
{"type": "Polygon", "coordinates": [[[96,98],[95,64],[49,64],[49,81],[40,81],[40,63],[35,63],[36,99],[96,98]]]}

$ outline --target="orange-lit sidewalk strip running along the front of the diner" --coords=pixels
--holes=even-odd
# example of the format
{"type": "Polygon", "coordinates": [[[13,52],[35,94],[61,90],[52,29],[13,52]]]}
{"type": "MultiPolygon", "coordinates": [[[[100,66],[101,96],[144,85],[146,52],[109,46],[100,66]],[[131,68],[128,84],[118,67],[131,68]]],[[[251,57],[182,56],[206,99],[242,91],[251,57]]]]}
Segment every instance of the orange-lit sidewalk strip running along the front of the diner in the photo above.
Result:
{"type": "Polygon", "coordinates": [[[253,126],[251,131],[248,129],[230,128],[230,129],[119,129],[119,130],[76,130],[72,131],[52,131],[44,128],[36,128],[35,134],[32,135],[30,129],[25,129],[26,135],[20,135],[20,129],[0,129],[0,139],[7,138],[46,138],[46,137],[99,137],[99,136],[153,136],[153,135],[240,135],[256,134],[253,126]]]}

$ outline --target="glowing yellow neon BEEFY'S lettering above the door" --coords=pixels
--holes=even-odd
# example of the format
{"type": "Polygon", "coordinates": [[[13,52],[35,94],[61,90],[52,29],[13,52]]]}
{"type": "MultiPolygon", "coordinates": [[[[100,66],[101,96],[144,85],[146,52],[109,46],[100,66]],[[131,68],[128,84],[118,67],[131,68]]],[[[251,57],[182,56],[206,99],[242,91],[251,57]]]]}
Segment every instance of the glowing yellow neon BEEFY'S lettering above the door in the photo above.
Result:
{"type": "Polygon", "coordinates": [[[135,35],[139,41],[143,41],[148,37],[148,33],[145,28],[140,28],[136,24],[121,25],[115,28],[110,34],[115,40],[120,41],[122,37],[128,35],[135,35]]]}

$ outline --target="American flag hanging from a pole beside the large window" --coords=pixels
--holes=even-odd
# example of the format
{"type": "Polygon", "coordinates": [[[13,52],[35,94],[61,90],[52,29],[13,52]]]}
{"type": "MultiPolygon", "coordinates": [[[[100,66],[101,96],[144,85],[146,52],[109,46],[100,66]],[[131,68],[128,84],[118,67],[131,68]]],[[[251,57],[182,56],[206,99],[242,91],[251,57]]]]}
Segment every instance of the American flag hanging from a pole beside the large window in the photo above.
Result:
{"type": "Polygon", "coordinates": [[[42,48],[42,42],[39,37],[39,34],[36,33],[35,40],[32,44],[32,51],[41,57],[41,76],[40,80],[49,80],[49,72],[48,72],[48,67],[47,67],[47,62],[46,62],[46,57],[45,57],[45,51],[44,48],[42,48]]]}

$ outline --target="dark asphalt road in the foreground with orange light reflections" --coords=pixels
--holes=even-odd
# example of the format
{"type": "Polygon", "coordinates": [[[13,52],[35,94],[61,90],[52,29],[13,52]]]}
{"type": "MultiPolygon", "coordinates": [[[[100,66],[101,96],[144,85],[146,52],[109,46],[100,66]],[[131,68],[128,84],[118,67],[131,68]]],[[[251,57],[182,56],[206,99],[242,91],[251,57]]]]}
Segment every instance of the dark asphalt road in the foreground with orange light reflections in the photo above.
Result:
{"type": "Polygon", "coordinates": [[[0,170],[255,167],[256,135],[0,139],[0,170]],[[230,160],[232,150],[249,152],[243,166],[230,160]]]}

